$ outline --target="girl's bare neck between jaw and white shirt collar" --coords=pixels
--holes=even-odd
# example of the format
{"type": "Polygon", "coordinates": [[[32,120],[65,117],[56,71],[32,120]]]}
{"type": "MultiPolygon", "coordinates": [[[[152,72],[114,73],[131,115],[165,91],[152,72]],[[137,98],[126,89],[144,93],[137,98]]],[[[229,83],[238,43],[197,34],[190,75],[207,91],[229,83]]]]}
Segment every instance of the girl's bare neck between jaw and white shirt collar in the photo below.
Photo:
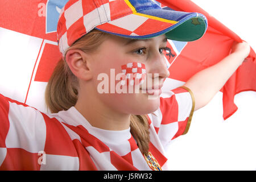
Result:
{"type": "Polygon", "coordinates": [[[97,96],[92,96],[92,93],[81,93],[84,94],[79,95],[75,107],[90,125],[104,130],[129,129],[131,114],[113,110],[99,100],[97,96]]]}

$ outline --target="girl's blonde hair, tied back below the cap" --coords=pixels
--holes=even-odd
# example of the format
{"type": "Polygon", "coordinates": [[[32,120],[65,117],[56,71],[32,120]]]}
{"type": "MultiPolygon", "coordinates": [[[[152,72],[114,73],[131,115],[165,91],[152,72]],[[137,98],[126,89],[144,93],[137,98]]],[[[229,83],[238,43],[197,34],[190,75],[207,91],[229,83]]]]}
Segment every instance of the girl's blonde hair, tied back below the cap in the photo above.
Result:
{"type": "MultiPolygon", "coordinates": [[[[77,40],[70,49],[81,49],[84,52],[96,51],[100,44],[108,38],[109,34],[98,30],[93,30],[77,40]]],[[[68,52],[68,50],[66,52],[68,52]]],[[[65,56],[64,56],[65,57],[65,56]]],[[[79,81],[69,69],[64,60],[60,60],[52,73],[46,87],[46,105],[52,113],[61,110],[68,110],[75,106],[77,102],[79,81]]],[[[130,132],[137,141],[139,150],[145,155],[148,153],[150,136],[148,131],[147,115],[131,114],[130,132]]]]}

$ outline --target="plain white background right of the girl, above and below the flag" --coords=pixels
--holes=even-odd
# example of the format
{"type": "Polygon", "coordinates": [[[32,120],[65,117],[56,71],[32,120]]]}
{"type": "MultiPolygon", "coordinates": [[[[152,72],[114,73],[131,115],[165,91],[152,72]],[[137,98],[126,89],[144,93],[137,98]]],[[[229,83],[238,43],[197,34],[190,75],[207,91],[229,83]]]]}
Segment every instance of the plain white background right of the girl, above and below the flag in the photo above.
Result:
{"type": "MultiPolygon", "coordinates": [[[[256,1],[192,1],[256,50],[256,1]]],[[[234,102],[238,110],[225,121],[221,92],[195,111],[188,133],[168,152],[172,170],[256,170],[256,92],[237,94],[234,102]]]]}

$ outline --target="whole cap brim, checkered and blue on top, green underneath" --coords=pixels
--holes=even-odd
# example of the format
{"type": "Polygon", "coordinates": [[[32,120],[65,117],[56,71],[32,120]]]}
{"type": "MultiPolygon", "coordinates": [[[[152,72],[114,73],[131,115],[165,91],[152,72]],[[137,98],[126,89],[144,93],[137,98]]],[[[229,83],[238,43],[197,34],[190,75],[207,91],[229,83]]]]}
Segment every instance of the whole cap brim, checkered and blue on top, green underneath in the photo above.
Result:
{"type": "Polygon", "coordinates": [[[133,39],[148,39],[166,34],[168,39],[189,42],[204,35],[207,19],[199,13],[150,9],[101,24],[96,29],[133,39]]]}

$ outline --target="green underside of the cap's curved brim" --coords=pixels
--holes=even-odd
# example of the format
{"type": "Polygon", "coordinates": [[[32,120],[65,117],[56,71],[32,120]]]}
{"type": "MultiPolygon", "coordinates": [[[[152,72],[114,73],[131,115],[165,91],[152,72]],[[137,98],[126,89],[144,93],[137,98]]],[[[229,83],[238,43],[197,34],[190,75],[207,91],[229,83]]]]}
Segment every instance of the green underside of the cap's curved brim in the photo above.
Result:
{"type": "Polygon", "coordinates": [[[168,31],[166,36],[168,39],[189,42],[197,40],[204,35],[206,24],[203,18],[191,18],[168,31]]]}

